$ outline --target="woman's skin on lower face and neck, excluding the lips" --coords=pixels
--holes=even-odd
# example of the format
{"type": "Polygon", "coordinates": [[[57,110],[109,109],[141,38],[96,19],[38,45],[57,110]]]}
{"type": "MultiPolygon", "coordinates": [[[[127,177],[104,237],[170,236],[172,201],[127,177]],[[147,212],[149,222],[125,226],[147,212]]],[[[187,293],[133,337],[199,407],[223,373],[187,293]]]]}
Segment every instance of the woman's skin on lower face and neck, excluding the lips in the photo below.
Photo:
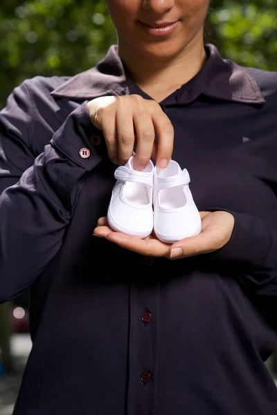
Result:
{"type": "Polygon", "coordinates": [[[154,100],[166,98],[202,68],[209,0],[107,0],[107,6],[116,26],[118,53],[134,82],[154,100]],[[137,23],[178,19],[174,33],[158,38],[137,23]]]}

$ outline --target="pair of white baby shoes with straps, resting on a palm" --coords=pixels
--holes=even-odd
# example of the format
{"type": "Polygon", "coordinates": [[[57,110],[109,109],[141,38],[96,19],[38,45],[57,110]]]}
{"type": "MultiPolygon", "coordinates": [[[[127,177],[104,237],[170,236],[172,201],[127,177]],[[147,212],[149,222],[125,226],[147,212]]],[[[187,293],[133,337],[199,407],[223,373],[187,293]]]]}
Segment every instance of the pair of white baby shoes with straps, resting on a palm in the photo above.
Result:
{"type": "Polygon", "coordinates": [[[109,226],[141,239],[154,228],[157,238],[167,243],[199,234],[202,223],[188,185],[188,170],[181,170],[173,160],[159,169],[150,160],[143,172],[138,172],[133,160],[134,156],[114,172],[109,226]]]}

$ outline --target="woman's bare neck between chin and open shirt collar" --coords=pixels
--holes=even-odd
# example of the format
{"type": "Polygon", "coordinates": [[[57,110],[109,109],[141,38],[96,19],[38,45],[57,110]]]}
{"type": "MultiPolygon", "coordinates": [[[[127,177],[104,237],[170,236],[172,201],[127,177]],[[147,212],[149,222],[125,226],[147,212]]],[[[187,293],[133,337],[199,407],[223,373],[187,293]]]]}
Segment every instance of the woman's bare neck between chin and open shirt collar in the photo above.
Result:
{"type": "Polygon", "coordinates": [[[203,37],[193,39],[181,53],[170,59],[150,59],[120,42],[118,55],[132,74],[134,82],[158,102],[191,80],[206,61],[203,37]]]}

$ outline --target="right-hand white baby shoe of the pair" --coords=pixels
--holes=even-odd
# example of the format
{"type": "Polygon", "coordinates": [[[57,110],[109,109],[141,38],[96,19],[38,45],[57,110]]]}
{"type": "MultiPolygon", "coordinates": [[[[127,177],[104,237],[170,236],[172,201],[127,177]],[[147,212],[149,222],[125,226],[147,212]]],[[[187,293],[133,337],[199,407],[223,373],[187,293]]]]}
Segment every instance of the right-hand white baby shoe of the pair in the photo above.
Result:
{"type": "Polygon", "coordinates": [[[170,160],[165,169],[154,167],[154,232],[174,243],[201,232],[202,222],[188,183],[188,170],[170,160]]]}

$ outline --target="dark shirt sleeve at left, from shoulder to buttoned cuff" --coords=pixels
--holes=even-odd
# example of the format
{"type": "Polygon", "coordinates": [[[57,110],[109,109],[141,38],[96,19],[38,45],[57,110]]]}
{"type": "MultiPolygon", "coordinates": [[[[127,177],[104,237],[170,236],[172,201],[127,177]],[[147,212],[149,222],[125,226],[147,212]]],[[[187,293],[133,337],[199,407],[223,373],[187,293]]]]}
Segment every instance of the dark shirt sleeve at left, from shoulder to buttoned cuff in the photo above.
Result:
{"type": "Polygon", "coordinates": [[[60,250],[80,179],[102,160],[86,103],[59,125],[59,107],[42,89],[21,84],[0,111],[0,303],[33,284],[60,250]]]}

